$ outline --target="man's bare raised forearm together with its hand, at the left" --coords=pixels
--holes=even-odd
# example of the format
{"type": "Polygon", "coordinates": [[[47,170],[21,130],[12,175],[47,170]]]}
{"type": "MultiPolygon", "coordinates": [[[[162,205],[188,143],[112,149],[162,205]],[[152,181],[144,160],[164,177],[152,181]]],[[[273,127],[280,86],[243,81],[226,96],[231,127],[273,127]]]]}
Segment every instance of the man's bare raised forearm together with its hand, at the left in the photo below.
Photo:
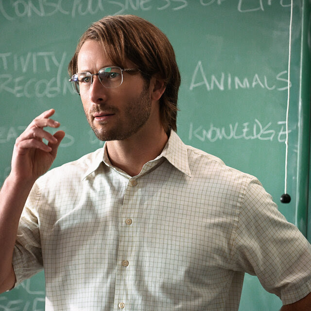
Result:
{"type": "Polygon", "coordinates": [[[44,130],[44,127],[59,127],[59,122],[50,119],[54,112],[54,109],[43,112],[16,139],[11,173],[0,190],[0,291],[13,286],[13,250],[19,218],[27,197],[35,180],[51,167],[65,136],[63,131],[52,135],[44,130]]]}

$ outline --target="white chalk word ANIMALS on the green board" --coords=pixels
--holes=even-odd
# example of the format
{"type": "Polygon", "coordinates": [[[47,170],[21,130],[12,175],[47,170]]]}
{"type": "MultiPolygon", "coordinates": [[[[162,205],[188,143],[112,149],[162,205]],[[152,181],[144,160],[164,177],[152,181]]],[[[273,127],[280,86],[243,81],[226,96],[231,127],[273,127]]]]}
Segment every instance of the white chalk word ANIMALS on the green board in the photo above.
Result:
{"type": "MultiPolygon", "coordinates": [[[[212,91],[214,88],[223,91],[240,88],[254,89],[258,87],[269,91],[284,91],[288,89],[287,70],[277,73],[274,81],[268,81],[266,75],[259,75],[258,73],[254,73],[251,77],[239,77],[231,73],[222,72],[217,76],[211,74],[210,78],[207,79],[207,74],[203,69],[202,62],[199,61],[192,74],[190,90],[198,86],[206,86],[207,91],[212,91]]],[[[290,87],[291,86],[292,83],[290,83],[290,87]]]]}

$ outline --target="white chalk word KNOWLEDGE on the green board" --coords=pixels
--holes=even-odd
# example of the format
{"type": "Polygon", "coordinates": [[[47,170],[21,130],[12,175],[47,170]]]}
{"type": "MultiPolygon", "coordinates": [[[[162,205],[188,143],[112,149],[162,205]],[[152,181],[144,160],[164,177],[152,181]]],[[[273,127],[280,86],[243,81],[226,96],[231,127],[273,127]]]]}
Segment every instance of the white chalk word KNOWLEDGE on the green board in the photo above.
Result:
{"type": "MultiPolygon", "coordinates": [[[[209,128],[205,129],[202,125],[195,127],[190,123],[189,140],[197,138],[201,141],[215,142],[222,139],[259,139],[272,141],[277,139],[278,142],[285,142],[286,128],[285,121],[277,122],[277,129],[272,122],[262,124],[255,119],[252,122],[230,123],[227,126],[216,127],[210,123],[209,128]]],[[[289,133],[291,130],[288,131],[289,133]]]]}

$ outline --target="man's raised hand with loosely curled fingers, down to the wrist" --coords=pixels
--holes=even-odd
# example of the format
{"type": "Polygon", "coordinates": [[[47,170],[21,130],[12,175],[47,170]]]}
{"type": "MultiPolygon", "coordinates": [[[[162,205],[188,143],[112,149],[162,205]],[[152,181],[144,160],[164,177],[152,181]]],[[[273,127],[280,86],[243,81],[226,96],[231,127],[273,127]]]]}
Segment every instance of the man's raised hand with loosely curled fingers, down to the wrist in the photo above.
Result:
{"type": "Polygon", "coordinates": [[[17,181],[35,182],[51,167],[58,146],[65,136],[63,131],[57,131],[52,135],[44,130],[44,127],[60,126],[59,122],[50,119],[54,112],[54,109],[43,112],[16,139],[10,175],[13,175],[17,181]],[[43,138],[48,141],[48,144],[43,142],[43,138]]]}

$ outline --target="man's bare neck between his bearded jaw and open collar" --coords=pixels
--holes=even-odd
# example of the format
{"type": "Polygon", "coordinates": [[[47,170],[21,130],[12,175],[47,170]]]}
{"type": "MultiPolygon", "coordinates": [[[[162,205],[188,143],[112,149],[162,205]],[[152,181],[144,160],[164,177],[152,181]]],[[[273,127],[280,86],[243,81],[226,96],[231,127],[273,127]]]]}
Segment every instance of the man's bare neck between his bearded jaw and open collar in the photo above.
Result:
{"type": "Polygon", "coordinates": [[[163,127],[159,126],[153,132],[141,129],[130,138],[107,141],[106,144],[111,164],[136,176],[145,163],[161,154],[167,141],[163,127]]]}

